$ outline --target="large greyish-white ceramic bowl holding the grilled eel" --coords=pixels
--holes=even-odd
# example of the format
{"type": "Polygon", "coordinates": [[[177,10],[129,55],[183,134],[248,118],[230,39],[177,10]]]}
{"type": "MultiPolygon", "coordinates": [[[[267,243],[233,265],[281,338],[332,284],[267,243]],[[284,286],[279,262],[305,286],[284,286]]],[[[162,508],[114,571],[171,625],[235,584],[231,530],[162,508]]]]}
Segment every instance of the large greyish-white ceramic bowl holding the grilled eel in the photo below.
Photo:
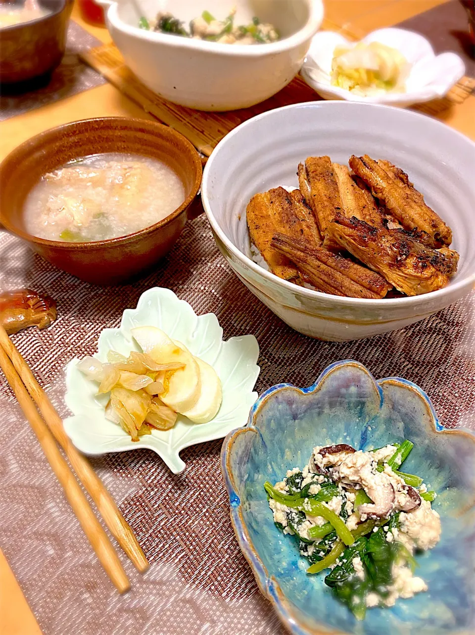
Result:
{"type": "Polygon", "coordinates": [[[295,330],[323,340],[370,337],[427,318],[475,283],[475,144],[443,123],[383,105],[309,102],[241,124],[211,154],[201,185],[218,248],[244,284],[295,330]],[[458,273],[439,291],[387,300],[326,295],[284,281],[251,260],[246,205],[253,194],[298,186],[297,165],[328,154],[389,159],[452,227],[458,273]]]}

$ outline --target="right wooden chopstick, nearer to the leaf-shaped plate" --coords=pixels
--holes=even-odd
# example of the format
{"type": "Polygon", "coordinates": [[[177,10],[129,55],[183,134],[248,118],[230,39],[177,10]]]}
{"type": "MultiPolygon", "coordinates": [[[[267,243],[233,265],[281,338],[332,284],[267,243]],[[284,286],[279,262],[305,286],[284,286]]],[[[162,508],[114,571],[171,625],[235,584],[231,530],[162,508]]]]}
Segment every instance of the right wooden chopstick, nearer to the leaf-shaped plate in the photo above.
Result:
{"type": "Polygon", "coordinates": [[[57,442],[62,446],[70,464],[76,472],[79,480],[83,483],[86,490],[90,493],[91,498],[97,505],[105,524],[109,527],[112,535],[121,545],[133,564],[140,572],[145,572],[149,568],[149,563],[142,547],[137,542],[137,538],[133,534],[128,523],[126,523],[121,512],[117,508],[114,498],[104,486],[104,483],[92,469],[90,463],[82,454],[80,454],[74,445],[72,445],[67,436],[61,417],[58,415],[48,396],[38,384],[28,364],[22,358],[17,348],[8,337],[3,326],[0,324],[0,346],[11,359],[11,363],[15,366],[15,370],[22,378],[27,391],[32,399],[36,402],[39,411],[43,415],[44,421],[48,424],[50,431],[57,442]]]}

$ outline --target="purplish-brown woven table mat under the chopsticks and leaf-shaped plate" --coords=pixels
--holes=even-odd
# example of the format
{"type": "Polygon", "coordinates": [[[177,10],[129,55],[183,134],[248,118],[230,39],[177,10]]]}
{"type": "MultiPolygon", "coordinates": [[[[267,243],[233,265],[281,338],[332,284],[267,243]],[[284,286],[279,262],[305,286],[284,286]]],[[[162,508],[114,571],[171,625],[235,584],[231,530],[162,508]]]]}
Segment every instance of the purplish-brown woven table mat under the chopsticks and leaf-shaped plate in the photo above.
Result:
{"type": "MultiPolygon", "coordinates": [[[[475,427],[475,294],[403,330],[336,344],[299,335],[234,276],[204,217],[139,283],[98,288],[58,271],[0,232],[0,288],[29,286],[58,302],[58,320],[14,336],[62,415],[63,368],[92,354],[105,326],[117,327],[140,294],[165,286],[198,313],[215,312],[224,337],[253,333],[262,368],[257,390],[310,385],[338,359],[361,361],[375,377],[422,387],[448,427],[475,427]]],[[[149,450],[92,463],[144,547],[144,577],[118,596],[93,555],[34,434],[0,375],[0,547],[45,635],[283,635],[237,546],[219,470],[221,441],[187,448],[173,475],[149,450]]],[[[26,634],[27,635],[27,634],[26,634]]]]}

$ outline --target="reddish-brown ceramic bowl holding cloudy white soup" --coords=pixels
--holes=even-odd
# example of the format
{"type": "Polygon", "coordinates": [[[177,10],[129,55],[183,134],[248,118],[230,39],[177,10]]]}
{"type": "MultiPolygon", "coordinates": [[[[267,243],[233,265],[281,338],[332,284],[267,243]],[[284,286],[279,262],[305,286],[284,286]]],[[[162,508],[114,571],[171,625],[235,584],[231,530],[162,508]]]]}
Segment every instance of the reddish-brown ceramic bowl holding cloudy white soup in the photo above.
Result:
{"type": "Polygon", "coordinates": [[[175,130],[154,121],[101,117],[51,128],[19,145],[0,164],[0,222],[59,269],[94,284],[116,284],[151,269],[170,251],[187,218],[203,208],[195,201],[201,159],[175,130]],[[181,178],[186,199],[170,216],[141,231],[92,243],[37,238],[23,224],[23,206],[44,173],[81,157],[126,152],[160,159],[181,178]]]}

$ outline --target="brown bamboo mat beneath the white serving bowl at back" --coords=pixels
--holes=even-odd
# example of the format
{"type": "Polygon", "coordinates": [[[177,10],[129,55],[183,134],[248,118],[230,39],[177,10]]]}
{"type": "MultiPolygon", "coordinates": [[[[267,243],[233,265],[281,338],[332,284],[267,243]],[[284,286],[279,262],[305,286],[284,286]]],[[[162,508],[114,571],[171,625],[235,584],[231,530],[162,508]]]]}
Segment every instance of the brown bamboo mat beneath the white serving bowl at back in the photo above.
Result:
{"type": "MultiPolygon", "coordinates": [[[[124,95],[140,104],[145,112],[150,112],[163,123],[182,133],[206,156],[210,156],[218,142],[246,119],[281,106],[321,99],[297,75],[288,86],[262,104],[232,112],[201,112],[172,104],[144,86],[125,65],[121,53],[114,44],[104,44],[84,51],[81,53],[81,58],[124,95]]],[[[420,104],[414,108],[426,114],[438,116],[453,104],[464,102],[473,90],[475,90],[475,79],[462,77],[445,98],[420,104]]]]}

